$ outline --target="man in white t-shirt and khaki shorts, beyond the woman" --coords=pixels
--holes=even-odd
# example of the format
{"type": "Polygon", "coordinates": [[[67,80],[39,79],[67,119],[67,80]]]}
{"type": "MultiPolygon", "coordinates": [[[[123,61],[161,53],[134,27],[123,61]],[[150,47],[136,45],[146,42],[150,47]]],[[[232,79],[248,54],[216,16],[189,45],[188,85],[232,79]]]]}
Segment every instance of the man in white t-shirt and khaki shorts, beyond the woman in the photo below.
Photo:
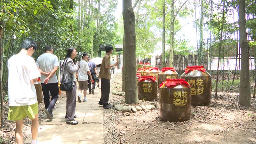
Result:
{"type": "Polygon", "coordinates": [[[90,82],[93,81],[93,77],[91,76],[91,72],[88,66],[88,53],[82,54],[82,60],[80,61],[80,68],[78,70],[78,83],[79,83],[79,93],[78,93],[78,101],[82,102],[81,93],[84,90],[84,102],[87,102],[88,99],[86,98],[87,90],[88,90],[88,76],[90,76],[90,82]]]}

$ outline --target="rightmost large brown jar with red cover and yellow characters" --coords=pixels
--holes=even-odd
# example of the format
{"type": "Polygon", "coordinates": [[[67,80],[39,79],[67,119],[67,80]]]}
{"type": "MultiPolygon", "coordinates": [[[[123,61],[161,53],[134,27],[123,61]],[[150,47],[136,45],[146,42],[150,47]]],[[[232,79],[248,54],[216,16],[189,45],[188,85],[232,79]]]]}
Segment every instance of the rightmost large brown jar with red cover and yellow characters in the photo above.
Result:
{"type": "Polygon", "coordinates": [[[211,103],[212,79],[203,66],[188,66],[181,78],[191,86],[191,105],[203,106],[211,103]]]}

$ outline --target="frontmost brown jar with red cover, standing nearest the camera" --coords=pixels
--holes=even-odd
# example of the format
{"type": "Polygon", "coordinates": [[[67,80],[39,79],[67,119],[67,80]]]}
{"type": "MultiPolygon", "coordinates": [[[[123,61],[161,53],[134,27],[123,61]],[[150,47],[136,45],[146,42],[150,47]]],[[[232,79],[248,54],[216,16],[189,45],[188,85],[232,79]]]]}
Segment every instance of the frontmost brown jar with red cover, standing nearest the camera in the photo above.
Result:
{"type": "Polygon", "coordinates": [[[160,118],[165,121],[185,121],[190,118],[191,92],[184,79],[166,79],[160,85],[160,118]]]}

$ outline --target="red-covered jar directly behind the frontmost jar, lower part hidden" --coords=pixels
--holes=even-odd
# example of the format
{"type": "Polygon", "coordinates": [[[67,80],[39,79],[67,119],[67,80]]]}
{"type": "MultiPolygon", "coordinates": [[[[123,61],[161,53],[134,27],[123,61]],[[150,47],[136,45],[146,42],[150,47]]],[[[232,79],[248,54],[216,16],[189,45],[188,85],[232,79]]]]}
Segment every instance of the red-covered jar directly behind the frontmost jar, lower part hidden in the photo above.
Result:
{"type": "Polygon", "coordinates": [[[158,87],[162,82],[164,82],[166,79],[175,79],[179,78],[179,74],[176,72],[174,68],[166,67],[162,68],[161,72],[158,74],[158,87]]]}

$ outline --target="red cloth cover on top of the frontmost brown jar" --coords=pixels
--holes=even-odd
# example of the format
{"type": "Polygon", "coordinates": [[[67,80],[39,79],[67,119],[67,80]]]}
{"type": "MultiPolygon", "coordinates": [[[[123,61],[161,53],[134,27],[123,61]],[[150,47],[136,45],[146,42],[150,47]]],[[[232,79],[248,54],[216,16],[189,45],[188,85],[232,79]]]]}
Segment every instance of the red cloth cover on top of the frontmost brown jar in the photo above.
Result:
{"type": "Polygon", "coordinates": [[[178,79],[169,79],[167,78],[166,81],[162,82],[159,87],[167,86],[167,88],[173,88],[177,84],[185,84],[188,88],[190,88],[190,85],[188,82],[185,81],[185,79],[178,78],[178,79]]]}

